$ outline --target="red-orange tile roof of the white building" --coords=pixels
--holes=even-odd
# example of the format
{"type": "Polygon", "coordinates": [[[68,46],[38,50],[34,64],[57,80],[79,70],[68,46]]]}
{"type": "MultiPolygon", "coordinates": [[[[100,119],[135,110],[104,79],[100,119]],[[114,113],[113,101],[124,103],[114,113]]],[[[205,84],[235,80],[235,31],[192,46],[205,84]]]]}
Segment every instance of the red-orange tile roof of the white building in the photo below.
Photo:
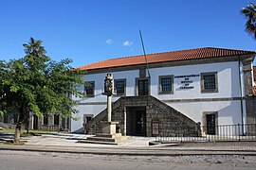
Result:
{"type": "MultiPolygon", "coordinates": [[[[173,52],[149,54],[147,55],[147,61],[148,63],[156,63],[156,62],[177,61],[177,60],[186,60],[186,59],[206,59],[206,58],[217,58],[217,57],[237,56],[237,55],[247,55],[247,54],[256,54],[256,53],[255,51],[205,47],[205,48],[196,48],[196,49],[180,50],[180,51],[173,51],[173,52]]],[[[106,59],[100,62],[84,65],[82,67],[79,67],[78,69],[94,70],[94,69],[120,67],[120,66],[128,66],[128,65],[138,65],[138,64],[144,64],[144,63],[145,63],[145,58],[143,55],[141,55],[141,56],[135,56],[135,57],[119,58],[119,59],[106,59]]]]}

